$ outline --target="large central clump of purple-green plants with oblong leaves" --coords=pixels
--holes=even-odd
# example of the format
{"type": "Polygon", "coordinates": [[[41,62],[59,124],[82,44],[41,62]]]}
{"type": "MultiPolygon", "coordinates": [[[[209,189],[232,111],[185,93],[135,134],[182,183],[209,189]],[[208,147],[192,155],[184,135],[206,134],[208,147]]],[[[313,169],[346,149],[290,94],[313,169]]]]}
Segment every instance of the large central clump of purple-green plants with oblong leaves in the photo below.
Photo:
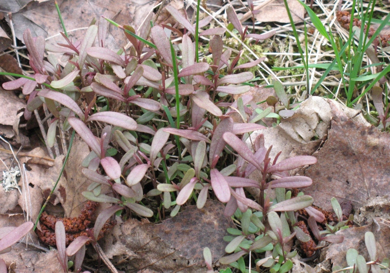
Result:
{"type": "MultiPolygon", "coordinates": [[[[264,58],[237,66],[241,52],[224,49],[225,29],[210,28],[199,37],[210,37],[212,63],[196,62],[192,38],[201,29],[195,29],[175,8],[166,9],[183,30],[152,26],[150,14],[137,31],[119,26],[131,43],[128,50],[119,53],[105,47],[107,21],[102,18],[98,25],[89,26],[82,40],[72,41],[63,35],[66,43],[58,45],[45,45],[42,37],[33,38],[26,30],[23,38],[34,74],[3,84],[6,90],[23,87],[23,94],[29,95],[26,119],[46,105],[54,117],[48,128],[49,146],[55,142],[58,129],[73,128],[78,133],[91,148],[82,173],[92,183],[82,195],[114,204],[98,215],[94,234],[78,237],[66,252],[63,227],[56,226],[64,271],[68,270],[65,254],[76,254],[78,270],[84,244],[92,241],[96,245],[104,223],[120,210],[159,220],[162,210],[174,216],[186,202],[194,200],[202,208],[208,198],[215,197],[226,203],[225,215],[236,214],[242,227],[226,248],[233,254],[222,258],[222,263],[272,246],[275,260],[290,268],[289,259],[296,252],[290,252],[287,242],[294,236],[307,239],[294,226],[294,211],[306,209],[319,222],[324,215],[310,207],[311,196],[293,197],[291,191],[286,192],[286,188],[312,184],[308,177],[290,177],[289,171],[314,164],[316,159],[295,156],[278,162],[278,156],[270,158],[272,147],[264,146],[262,135],[253,139],[250,150],[243,140],[248,133],[264,128],[259,123],[266,115],[256,111],[251,95],[236,101],[232,95],[248,92],[246,82],[254,78],[250,72],[236,72],[254,67],[264,58]],[[180,43],[170,41],[172,33],[181,38],[180,43]],[[50,52],[62,53],[66,65],[61,66],[50,52]],[[120,103],[120,113],[110,111],[114,103],[120,103]],[[234,122],[231,114],[235,112],[243,117],[241,122],[234,122]],[[237,164],[230,164],[232,153],[237,154],[237,164]],[[258,179],[249,178],[254,171],[261,174],[258,179]],[[102,185],[111,193],[102,194],[102,185]],[[246,187],[258,188],[260,194],[248,198],[246,187]],[[276,198],[271,200],[273,189],[276,198]],[[249,240],[254,233],[256,239],[249,240]],[[244,239],[246,248],[240,246],[244,239]]],[[[251,39],[232,8],[228,19],[242,39],[251,39]]],[[[210,18],[199,21],[199,28],[209,22],[210,18]]],[[[267,38],[269,35],[255,37],[267,38]]]]}

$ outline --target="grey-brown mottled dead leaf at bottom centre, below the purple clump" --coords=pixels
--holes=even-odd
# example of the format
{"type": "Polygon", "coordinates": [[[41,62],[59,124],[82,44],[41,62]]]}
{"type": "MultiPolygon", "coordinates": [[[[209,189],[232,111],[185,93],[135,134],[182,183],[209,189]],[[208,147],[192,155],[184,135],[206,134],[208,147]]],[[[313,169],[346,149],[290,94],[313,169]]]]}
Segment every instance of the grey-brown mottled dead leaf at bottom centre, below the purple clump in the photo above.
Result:
{"type": "Polygon", "coordinates": [[[215,262],[225,254],[226,229],[234,228],[231,218],[223,212],[220,202],[209,200],[203,209],[188,206],[184,212],[154,226],[153,231],[187,259],[203,261],[203,249],[208,247],[215,262]]]}

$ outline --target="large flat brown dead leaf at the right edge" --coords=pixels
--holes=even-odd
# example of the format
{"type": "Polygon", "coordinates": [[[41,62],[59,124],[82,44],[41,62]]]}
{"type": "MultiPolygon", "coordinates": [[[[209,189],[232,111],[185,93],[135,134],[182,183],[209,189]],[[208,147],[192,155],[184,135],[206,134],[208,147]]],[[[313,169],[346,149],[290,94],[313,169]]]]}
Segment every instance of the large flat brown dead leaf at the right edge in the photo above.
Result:
{"type": "Polygon", "coordinates": [[[332,110],[328,140],[313,155],[317,163],[304,172],[313,180],[305,194],[325,210],[331,210],[331,197],[360,208],[369,198],[389,195],[390,135],[332,110]]]}

